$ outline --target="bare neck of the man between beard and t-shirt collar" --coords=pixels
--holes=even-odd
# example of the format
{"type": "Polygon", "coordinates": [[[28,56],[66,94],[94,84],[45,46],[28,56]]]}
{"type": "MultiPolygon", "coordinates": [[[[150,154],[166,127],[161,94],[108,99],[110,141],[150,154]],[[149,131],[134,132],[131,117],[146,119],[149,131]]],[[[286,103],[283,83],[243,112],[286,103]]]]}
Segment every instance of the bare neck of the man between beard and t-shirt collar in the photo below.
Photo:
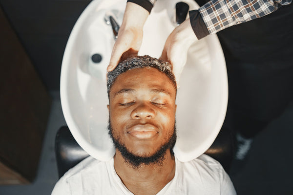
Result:
{"type": "Polygon", "coordinates": [[[129,165],[116,150],[114,168],[126,188],[134,195],[156,195],[175,175],[175,158],[167,150],[162,164],[129,165]]]}

